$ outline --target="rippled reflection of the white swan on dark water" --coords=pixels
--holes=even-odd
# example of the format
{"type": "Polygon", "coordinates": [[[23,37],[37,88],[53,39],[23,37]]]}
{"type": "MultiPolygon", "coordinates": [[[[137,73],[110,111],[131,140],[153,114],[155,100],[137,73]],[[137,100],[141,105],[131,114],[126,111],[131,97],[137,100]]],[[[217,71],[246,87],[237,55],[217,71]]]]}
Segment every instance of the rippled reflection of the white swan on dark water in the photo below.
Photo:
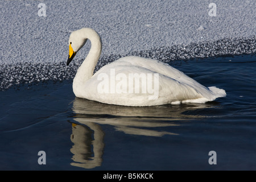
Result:
{"type": "Polygon", "coordinates": [[[112,125],[116,130],[131,135],[179,135],[163,129],[168,127],[170,130],[172,126],[180,126],[181,121],[187,122],[189,119],[203,117],[183,114],[185,111],[203,107],[206,107],[206,104],[129,107],[75,98],[71,135],[74,162],[71,165],[82,168],[101,166],[104,131],[100,125],[112,125]],[[157,127],[160,127],[160,130],[156,130],[157,127]]]}

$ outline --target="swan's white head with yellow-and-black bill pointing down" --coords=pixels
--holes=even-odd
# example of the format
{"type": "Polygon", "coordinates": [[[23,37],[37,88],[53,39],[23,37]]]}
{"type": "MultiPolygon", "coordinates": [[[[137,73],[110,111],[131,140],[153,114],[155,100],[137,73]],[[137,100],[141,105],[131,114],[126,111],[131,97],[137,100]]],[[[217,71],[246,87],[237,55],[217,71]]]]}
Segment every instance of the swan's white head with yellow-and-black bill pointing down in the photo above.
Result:
{"type": "Polygon", "coordinates": [[[71,33],[69,36],[68,44],[69,44],[69,55],[67,65],[73,60],[77,51],[79,51],[82,46],[86,43],[87,39],[82,38],[81,30],[76,30],[71,33]]]}

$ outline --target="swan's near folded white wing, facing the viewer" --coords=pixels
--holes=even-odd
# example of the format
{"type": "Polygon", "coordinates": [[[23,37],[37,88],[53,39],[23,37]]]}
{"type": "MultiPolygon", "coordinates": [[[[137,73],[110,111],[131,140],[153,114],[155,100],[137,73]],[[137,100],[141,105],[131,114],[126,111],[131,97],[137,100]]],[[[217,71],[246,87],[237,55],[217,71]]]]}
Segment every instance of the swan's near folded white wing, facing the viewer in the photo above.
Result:
{"type": "Polygon", "coordinates": [[[84,89],[84,97],[89,100],[117,105],[149,106],[203,98],[195,89],[173,78],[124,64],[109,64],[100,69],[84,89]]]}

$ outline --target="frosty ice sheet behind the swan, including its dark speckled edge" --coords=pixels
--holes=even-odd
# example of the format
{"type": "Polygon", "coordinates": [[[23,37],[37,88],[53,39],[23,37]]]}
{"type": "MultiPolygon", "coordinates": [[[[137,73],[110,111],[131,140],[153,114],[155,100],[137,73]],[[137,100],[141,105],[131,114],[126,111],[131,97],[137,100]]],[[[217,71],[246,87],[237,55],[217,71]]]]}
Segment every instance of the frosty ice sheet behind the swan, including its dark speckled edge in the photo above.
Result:
{"type": "Polygon", "coordinates": [[[2,1],[0,90],[10,85],[72,78],[90,48],[86,43],[70,67],[68,38],[82,27],[96,30],[102,56],[96,70],[118,57],[162,61],[254,53],[255,1],[2,1]]]}

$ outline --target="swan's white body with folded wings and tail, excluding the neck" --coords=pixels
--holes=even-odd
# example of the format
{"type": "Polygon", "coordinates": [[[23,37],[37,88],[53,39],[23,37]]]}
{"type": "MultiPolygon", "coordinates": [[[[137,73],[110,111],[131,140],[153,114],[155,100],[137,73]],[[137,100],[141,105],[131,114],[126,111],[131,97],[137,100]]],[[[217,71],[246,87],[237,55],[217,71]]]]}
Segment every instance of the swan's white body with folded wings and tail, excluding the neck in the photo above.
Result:
{"type": "Polygon", "coordinates": [[[84,90],[86,90],[84,98],[89,100],[130,106],[179,102],[203,103],[217,97],[224,97],[225,94],[222,89],[206,88],[166,63],[135,56],[123,57],[105,65],[86,82],[84,90]],[[146,77],[146,80],[141,83],[154,85],[151,87],[154,88],[154,92],[147,90],[146,93],[142,93],[146,86],[129,82],[129,74],[137,74],[141,80],[143,76],[151,75],[151,82],[148,82],[150,79],[146,77]],[[158,88],[155,87],[154,79],[152,79],[155,74],[158,75],[158,88]],[[125,84],[122,81],[125,81],[125,84]],[[129,93],[129,89],[133,89],[133,92],[129,93]],[[135,90],[139,90],[139,92],[136,93],[135,90]]]}

